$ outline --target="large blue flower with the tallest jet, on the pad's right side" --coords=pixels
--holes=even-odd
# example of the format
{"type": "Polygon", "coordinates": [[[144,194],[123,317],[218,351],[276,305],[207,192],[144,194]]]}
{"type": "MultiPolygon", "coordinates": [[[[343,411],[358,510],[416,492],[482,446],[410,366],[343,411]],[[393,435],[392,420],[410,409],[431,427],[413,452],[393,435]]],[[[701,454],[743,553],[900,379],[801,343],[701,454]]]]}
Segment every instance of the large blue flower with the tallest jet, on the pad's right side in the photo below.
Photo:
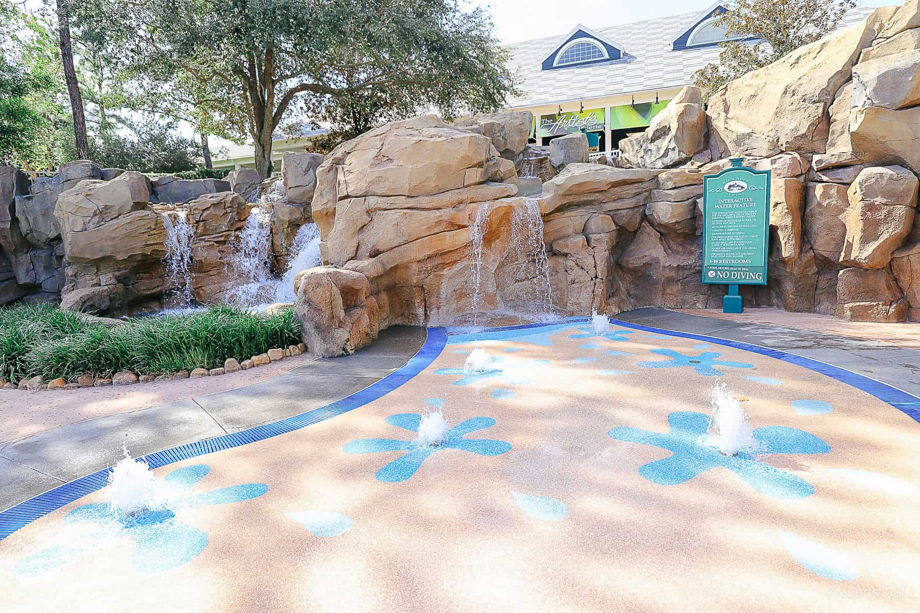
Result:
{"type": "MultiPolygon", "coordinates": [[[[725,456],[705,445],[701,442],[709,427],[705,414],[677,411],[668,415],[668,424],[671,429],[667,434],[627,426],[615,427],[607,434],[615,440],[672,451],[671,457],[643,464],[638,469],[640,475],[659,485],[677,485],[709,469],[726,468],[763,494],[777,498],[805,498],[814,494],[811,483],[765,464],[750,453],[742,451],[737,456],[725,456]]],[[[814,454],[831,450],[821,438],[786,426],[759,427],[753,431],[753,438],[759,444],[757,458],[776,453],[814,454]]]]}

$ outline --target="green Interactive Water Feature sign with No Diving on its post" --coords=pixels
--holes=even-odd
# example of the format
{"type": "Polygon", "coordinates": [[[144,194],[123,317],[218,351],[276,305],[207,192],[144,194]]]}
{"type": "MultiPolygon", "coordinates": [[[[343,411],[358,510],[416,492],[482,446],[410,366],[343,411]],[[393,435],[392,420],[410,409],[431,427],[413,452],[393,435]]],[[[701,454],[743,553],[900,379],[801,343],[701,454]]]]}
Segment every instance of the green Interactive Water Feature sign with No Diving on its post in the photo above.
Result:
{"type": "Polygon", "coordinates": [[[722,312],[742,312],[739,285],[766,285],[770,171],[742,165],[703,177],[703,283],[729,286],[722,312]]]}

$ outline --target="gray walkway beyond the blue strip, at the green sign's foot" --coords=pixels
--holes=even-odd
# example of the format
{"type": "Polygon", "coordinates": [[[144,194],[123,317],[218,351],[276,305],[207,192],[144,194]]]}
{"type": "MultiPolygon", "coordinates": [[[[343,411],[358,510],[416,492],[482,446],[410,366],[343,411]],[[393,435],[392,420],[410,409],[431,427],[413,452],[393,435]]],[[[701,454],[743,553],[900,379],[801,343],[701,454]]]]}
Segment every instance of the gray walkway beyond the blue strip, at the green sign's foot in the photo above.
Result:
{"type": "MultiPolygon", "coordinates": [[[[759,310],[754,309],[753,312],[759,310]]],[[[920,396],[920,351],[908,346],[894,346],[887,339],[871,340],[866,335],[847,336],[839,332],[819,332],[790,327],[795,313],[783,313],[787,325],[706,317],[668,309],[637,309],[621,312],[616,319],[632,324],[650,325],[677,332],[710,335],[752,345],[782,349],[805,358],[817,359],[851,370],[920,396]]],[[[811,315],[803,315],[812,318],[811,315]]],[[[763,318],[760,318],[763,320],[763,318]]],[[[839,321],[839,320],[838,320],[839,321]]],[[[853,324],[858,327],[860,324],[853,324]]],[[[898,325],[898,324],[891,324],[898,325]]],[[[816,327],[816,326],[811,326],[816,327]]]]}

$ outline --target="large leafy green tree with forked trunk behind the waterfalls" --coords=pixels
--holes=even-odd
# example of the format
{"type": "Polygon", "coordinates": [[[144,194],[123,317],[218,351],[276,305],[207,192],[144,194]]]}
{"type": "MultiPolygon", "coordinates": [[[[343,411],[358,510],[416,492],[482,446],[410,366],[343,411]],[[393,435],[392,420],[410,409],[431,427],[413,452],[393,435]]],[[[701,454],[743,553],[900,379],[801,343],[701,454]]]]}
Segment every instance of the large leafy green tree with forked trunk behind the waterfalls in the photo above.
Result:
{"type": "Polygon", "coordinates": [[[195,103],[253,140],[262,176],[296,108],[351,133],[420,108],[500,108],[513,91],[489,17],[455,0],[86,0],[76,12],[138,79],[193,79],[195,103]]]}

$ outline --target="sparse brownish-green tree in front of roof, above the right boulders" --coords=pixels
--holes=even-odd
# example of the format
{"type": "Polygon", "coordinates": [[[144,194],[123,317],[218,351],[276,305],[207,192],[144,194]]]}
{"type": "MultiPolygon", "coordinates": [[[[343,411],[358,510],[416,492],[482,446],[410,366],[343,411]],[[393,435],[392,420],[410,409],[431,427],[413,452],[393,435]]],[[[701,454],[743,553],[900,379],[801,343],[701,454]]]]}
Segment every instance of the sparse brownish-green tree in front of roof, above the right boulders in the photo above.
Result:
{"type": "Polygon", "coordinates": [[[696,71],[694,82],[708,98],[720,87],[819,40],[840,24],[855,0],[734,0],[717,25],[730,37],[720,42],[719,63],[696,71]]]}

